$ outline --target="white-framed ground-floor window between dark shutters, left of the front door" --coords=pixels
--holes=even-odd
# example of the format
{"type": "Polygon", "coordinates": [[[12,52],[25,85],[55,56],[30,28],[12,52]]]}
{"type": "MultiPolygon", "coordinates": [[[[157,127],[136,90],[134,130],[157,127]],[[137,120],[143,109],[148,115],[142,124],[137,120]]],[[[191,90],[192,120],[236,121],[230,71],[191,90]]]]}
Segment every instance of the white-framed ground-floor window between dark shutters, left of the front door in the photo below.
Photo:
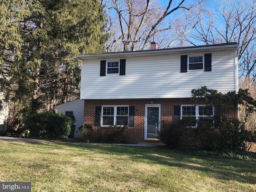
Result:
{"type": "Polygon", "coordinates": [[[128,125],[128,106],[102,106],[102,126],[128,125]]]}

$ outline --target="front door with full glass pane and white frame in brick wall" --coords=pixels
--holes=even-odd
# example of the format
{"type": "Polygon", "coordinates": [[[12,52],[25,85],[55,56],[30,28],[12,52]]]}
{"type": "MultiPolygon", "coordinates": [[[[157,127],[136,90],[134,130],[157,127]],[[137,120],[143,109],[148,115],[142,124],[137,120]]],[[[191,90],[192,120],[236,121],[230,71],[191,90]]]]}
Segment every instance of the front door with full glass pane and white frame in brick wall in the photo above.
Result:
{"type": "Polygon", "coordinates": [[[159,138],[161,105],[148,104],[145,107],[145,139],[159,138]]]}

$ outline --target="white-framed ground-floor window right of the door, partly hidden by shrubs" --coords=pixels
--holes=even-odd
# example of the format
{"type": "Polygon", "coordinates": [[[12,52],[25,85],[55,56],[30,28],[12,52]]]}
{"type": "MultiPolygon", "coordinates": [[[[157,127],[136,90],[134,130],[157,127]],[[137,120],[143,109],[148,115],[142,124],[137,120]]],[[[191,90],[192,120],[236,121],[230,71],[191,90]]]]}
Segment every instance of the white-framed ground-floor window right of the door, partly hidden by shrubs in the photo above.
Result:
{"type": "Polygon", "coordinates": [[[196,122],[213,124],[214,107],[202,105],[182,105],[181,118],[188,121],[188,126],[196,127],[196,122]]]}

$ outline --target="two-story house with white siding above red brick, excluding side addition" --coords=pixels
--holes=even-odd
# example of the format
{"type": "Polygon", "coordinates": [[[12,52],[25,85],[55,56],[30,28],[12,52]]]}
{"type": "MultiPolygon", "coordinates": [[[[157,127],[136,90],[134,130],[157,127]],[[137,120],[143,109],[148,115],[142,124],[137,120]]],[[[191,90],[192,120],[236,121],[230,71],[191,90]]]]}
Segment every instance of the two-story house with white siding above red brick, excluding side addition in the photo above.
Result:
{"type": "Polygon", "coordinates": [[[128,126],[137,143],[158,140],[163,121],[210,121],[206,111],[214,115],[214,106],[192,104],[191,90],[237,92],[237,53],[237,43],[226,43],[80,55],[84,124],[128,126]]]}

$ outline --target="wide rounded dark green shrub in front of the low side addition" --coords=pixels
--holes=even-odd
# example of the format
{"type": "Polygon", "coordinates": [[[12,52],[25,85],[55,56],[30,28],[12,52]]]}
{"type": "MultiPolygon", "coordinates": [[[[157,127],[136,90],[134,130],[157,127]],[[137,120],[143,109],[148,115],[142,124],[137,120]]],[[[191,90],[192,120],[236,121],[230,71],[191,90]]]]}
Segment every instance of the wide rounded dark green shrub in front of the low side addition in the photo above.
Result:
{"type": "Polygon", "coordinates": [[[75,118],[64,114],[43,112],[27,116],[25,128],[30,131],[29,137],[67,139],[75,118]]]}

